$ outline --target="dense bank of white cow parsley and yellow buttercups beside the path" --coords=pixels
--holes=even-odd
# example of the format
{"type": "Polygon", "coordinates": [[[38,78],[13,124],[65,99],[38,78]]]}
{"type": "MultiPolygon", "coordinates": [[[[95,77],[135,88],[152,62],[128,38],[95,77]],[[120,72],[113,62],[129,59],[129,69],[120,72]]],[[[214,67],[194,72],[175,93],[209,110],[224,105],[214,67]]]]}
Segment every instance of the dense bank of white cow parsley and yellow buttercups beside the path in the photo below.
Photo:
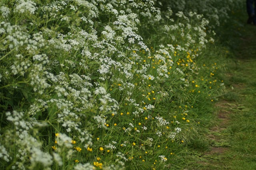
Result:
{"type": "Polygon", "coordinates": [[[1,169],[175,164],[183,129],[198,124],[193,105],[224,84],[221,63],[196,63],[210,58],[213,25],[167,2],[0,2],[1,169]]]}

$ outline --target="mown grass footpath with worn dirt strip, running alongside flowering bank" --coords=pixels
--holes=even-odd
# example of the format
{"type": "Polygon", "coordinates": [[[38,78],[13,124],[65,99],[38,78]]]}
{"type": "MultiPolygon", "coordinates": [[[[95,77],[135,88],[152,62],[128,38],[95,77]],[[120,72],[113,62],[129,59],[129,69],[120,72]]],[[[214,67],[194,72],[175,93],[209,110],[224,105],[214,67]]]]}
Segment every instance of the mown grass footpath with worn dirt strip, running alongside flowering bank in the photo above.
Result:
{"type": "Polygon", "coordinates": [[[223,75],[227,93],[216,103],[212,126],[202,133],[210,150],[190,154],[187,169],[256,169],[256,28],[244,24],[247,16],[242,13],[227,26],[232,31],[225,38],[233,50],[223,75]]]}

